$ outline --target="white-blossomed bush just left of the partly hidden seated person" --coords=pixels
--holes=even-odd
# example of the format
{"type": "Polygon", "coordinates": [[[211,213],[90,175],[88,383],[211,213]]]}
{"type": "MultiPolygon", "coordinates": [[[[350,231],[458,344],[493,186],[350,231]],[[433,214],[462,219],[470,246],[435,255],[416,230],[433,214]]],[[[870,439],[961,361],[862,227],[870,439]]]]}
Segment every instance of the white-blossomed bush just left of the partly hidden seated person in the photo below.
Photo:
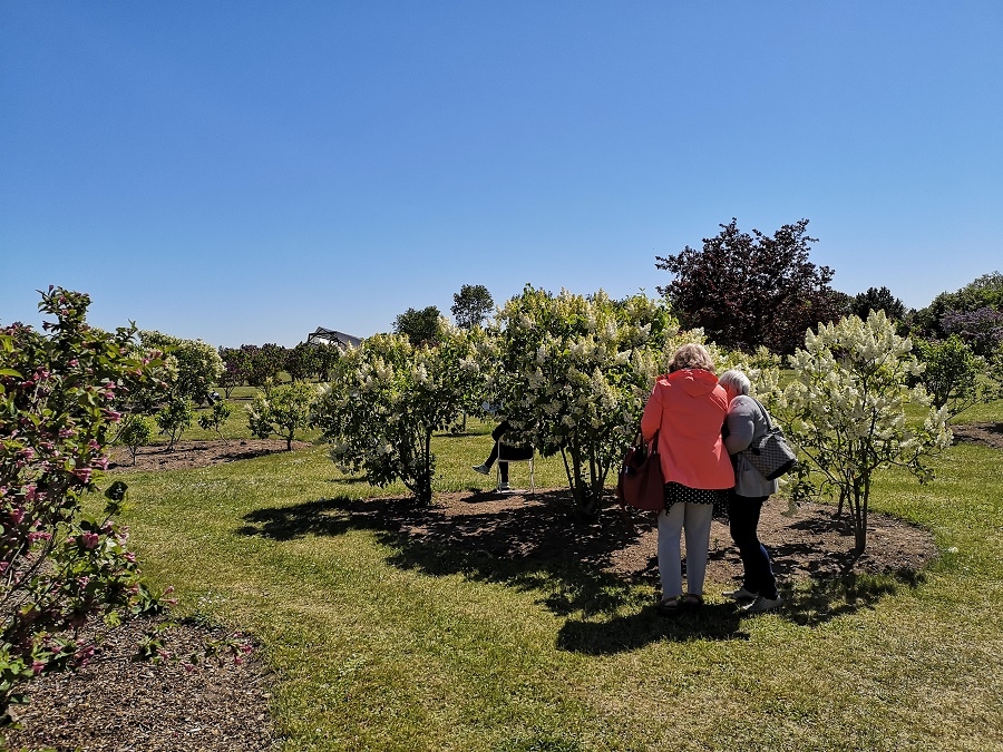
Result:
{"type": "Polygon", "coordinates": [[[434,431],[455,424],[483,393],[475,345],[479,330],[444,322],[438,341],[413,346],[400,334],[377,334],[345,352],[313,410],[344,472],[364,472],[374,486],[396,480],[419,504],[431,501],[434,431]]]}

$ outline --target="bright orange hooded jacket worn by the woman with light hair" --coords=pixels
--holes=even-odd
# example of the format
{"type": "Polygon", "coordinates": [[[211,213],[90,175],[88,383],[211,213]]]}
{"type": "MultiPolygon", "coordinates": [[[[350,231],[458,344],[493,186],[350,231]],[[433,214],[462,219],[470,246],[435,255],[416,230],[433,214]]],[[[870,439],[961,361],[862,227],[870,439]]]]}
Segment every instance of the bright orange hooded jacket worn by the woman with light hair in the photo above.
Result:
{"type": "Polygon", "coordinates": [[[655,381],[641,433],[651,441],[659,431],[659,456],[665,482],[689,488],[734,486],[734,468],[721,439],[728,395],[708,371],[683,369],[655,381]]]}

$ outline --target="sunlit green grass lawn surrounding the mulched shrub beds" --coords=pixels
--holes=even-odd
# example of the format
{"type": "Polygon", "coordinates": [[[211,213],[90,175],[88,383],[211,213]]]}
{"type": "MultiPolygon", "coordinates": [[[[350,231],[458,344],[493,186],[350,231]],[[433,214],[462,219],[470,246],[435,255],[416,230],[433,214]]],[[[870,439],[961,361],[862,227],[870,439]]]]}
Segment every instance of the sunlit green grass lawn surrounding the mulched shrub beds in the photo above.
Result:
{"type": "MultiPolygon", "coordinates": [[[[1003,404],[966,418],[1003,420],[1003,404]]],[[[493,485],[470,471],[490,426],[470,429],[436,438],[437,490],[493,485]]],[[[259,641],[283,750],[1003,750],[1001,459],[964,443],[927,486],[883,473],[873,508],[931,529],[943,554],[913,585],[834,585],[840,607],[810,624],[739,616],[723,583],[702,615],[666,621],[650,587],[584,567],[428,566],[455,553],[338,509],[403,487],[342,476],[322,446],[129,473],[124,521],[182,613],[259,641]],[[275,517],[292,524],[259,524],[275,517]]],[[[536,475],[566,482],[559,458],[536,475]]],[[[792,604],[811,594],[795,584],[792,604]]]]}

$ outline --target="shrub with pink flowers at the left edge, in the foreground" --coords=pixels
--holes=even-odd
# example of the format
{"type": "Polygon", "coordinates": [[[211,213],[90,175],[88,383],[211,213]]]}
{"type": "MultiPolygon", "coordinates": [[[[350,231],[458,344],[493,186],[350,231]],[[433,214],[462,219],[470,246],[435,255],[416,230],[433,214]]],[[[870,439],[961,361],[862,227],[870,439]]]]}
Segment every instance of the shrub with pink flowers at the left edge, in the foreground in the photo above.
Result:
{"type": "Polygon", "coordinates": [[[89,303],[50,287],[42,332],[0,328],[0,724],[25,682],[91,654],[76,634],[89,617],[159,607],[114,521],[125,485],[99,519],[80,498],[107,466],[116,400],[153,389],[162,363],[129,354],[134,328],[90,328],[89,303]]]}

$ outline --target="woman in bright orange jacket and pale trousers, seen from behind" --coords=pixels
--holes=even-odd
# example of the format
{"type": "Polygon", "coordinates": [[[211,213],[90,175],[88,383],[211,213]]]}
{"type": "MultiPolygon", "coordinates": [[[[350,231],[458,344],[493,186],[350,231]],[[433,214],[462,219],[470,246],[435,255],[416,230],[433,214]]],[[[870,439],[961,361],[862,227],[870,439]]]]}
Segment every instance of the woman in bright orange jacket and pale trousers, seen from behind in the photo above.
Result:
{"type": "Polygon", "coordinates": [[[665,508],[659,512],[659,611],[703,603],[703,578],[715,504],[728,501],[734,468],[721,439],[728,395],[718,384],[714,362],[701,344],[684,344],[672,357],[669,373],[655,381],[641,432],[659,437],[665,479],[665,508]],[[686,531],[686,594],[682,593],[680,538],[686,531]]]}

